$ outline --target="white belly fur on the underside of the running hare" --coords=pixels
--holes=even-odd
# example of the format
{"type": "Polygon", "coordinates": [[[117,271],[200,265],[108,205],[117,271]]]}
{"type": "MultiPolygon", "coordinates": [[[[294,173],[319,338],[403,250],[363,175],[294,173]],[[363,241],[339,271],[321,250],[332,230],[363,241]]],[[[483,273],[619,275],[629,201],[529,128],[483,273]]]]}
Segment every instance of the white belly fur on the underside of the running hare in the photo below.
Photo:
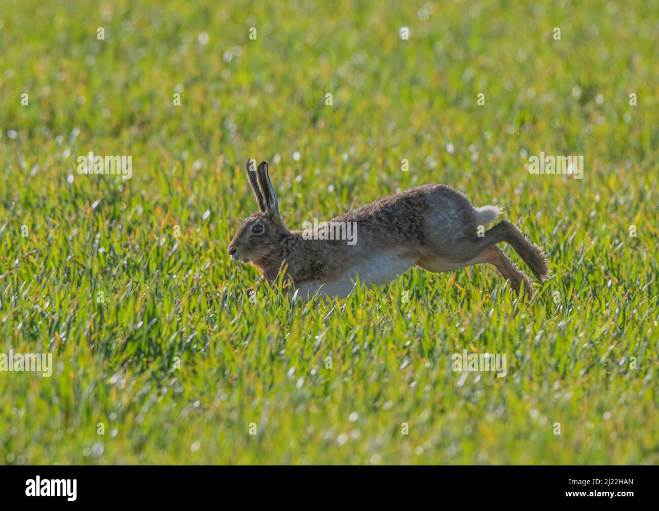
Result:
{"type": "Polygon", "coordinates": [[[333,281],[311,281],[300,286],[299,296],[310,298],[315,292],[345,298],[353,290],[357,277],[360,282],[371,286],[383,286],[415,264],[415,259],[397,252],[376,254],[359,261],[333,281]],[[322,287],[321,287],[322,286],[322,287]]]}

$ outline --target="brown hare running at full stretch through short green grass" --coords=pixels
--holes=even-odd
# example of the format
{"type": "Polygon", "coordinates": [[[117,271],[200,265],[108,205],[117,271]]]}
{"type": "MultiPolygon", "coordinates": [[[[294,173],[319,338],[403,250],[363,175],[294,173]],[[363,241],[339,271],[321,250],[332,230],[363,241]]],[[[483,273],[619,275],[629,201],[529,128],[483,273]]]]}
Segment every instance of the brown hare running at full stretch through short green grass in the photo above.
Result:
{"type": "Polygon", "coordinates": [[[343,298],[356,277],[380,286],[413,265],[442,272],[478,263],[493,264],[517,292],[523,282],[530,295],[529,277],[503,254],[500,242],[510,244],[540,281],[547,277],[542,248],[513,223],[502,220],[486,232],[481,227],[478,236],[478,226],[494,221],[498,207],[474,207],[449,186],[425,184],[336,217],[330,225],[356,226],[357,236],[347,242],[322,239],[328,236],[318,235],[318,225],[289,231],[279,215],[268,163],[262,161],[254,171],[248,161],[247,176],[259,211],[241,223],[227,252],[231,259],[254,263],[269,282],[287,267],[287,277],[304,299],[316,292],[343,298]]]}

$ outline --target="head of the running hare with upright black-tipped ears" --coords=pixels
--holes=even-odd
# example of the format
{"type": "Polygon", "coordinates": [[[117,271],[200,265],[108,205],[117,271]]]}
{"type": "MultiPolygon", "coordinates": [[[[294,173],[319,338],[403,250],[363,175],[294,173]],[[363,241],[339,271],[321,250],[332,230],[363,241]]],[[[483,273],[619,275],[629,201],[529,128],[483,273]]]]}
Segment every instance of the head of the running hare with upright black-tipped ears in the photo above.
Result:
{"type": "Polygon", "coordinates": [[[281,249],[281,240],[291,234],[284,226],[275,189],[268,174],[268,163],[262,161],[254,170],[254,161],[247,162],[247,178],[254,190],[258,213],[241,223],[227,252],[231,259],[267,263],[276,259],[281,249]]]}

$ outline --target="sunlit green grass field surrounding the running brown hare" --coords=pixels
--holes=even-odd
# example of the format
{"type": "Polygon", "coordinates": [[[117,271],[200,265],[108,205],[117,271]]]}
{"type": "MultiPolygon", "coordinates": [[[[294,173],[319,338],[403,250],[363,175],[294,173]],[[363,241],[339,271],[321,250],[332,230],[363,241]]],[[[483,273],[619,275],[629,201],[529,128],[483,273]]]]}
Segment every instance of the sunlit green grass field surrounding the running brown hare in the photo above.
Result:
{"type": "Polygon", "coordinates": [[[658,45],[656,0],[0,0],[0,353],[53,354],[0,372],[0,464],[658,464],[658,45]],[[434,182],[502,205],[550,279],[251,303],[248,158],[290,229],[434,182]]]}

